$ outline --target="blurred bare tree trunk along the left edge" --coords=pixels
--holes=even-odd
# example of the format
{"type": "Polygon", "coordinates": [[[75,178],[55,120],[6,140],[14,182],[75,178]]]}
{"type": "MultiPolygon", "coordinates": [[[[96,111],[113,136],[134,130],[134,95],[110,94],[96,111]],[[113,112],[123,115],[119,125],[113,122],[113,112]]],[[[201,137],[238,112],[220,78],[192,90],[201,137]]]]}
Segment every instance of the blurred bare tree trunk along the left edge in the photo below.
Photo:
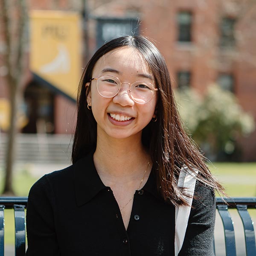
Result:
{"type": "Polygon", "coordinates": [[[27,20],[26,0],[0,0],[3,43],[6,51],[3,53],[3,64],[8,69],[6,85],[9,88],[10,116],[9,131],[6,145],[6,166],[3,195],[14,195],[12,187],[13,163],[15,162],[15,139],[17,136],[17,111],[21,102],[21,84],[25,69],[24,49],[27,37],[25,26],[27,20]],[[16,9],[15,15],[13,11],[16,9]]]}

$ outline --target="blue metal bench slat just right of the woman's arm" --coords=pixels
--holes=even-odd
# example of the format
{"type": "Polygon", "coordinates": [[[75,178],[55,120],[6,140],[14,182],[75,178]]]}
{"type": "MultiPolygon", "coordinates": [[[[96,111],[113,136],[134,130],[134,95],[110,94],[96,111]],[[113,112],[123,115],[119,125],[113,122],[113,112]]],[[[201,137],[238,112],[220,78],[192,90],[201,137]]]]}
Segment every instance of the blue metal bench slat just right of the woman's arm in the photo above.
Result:
{"type": "Polygon", "coordinates": [[[224,227],[226,256],[236,256],[236,241],[232,218],[225,204],[217,205],[224,227]]]}

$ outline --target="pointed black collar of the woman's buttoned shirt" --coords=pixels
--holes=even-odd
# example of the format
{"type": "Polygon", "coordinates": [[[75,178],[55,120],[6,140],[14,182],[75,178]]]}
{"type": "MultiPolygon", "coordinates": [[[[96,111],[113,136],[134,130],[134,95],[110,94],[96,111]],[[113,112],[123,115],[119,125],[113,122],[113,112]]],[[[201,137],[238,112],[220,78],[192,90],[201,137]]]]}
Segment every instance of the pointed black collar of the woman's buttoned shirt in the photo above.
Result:
{"type": "MultiPolygon", "coordinates": [[[[157,192],[155,170],[152,169],[143,190],[150,192],[156,198],[160,198],[157,192]]],[[[108,188],[100,179],[93,163],[93,152],[79,159],[74,164],[74,182],[76,204],[81,206],[95,197],[102,189],[108,188]]]]}

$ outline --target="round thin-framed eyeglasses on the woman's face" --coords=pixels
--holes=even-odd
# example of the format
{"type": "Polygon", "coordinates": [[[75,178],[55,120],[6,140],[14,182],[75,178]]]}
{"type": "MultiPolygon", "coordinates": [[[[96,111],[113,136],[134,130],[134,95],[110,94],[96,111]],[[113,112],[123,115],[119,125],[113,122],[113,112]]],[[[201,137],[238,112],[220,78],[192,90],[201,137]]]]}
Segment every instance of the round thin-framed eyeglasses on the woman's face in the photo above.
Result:
{"type": "Polygon", "coordinates": [[[148,103],[153,98],[154,92],[158,90],[148,82],[121,83],[119,78],[110,75],[99,76],[98,78],[92,78],[92,80],[96,80],[97,91],[104,98],[113,98],[119,93],[122,84],[129,84],[128,93],[131,99],[139,104],[148,103]]]}

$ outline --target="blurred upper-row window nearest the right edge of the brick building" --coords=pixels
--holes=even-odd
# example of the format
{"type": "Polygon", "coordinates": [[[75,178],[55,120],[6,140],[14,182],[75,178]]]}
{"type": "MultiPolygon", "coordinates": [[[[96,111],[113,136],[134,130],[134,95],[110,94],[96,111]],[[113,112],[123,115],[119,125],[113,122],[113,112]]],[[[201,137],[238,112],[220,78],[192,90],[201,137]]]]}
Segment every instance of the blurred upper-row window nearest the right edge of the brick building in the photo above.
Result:
{"type": "Polygon", "coordinates": [[[235,25],[236,19],[231,17],[224,17],[221,20],[221,47],[234,47],[236,44],[235,40],[235,25]]]}

